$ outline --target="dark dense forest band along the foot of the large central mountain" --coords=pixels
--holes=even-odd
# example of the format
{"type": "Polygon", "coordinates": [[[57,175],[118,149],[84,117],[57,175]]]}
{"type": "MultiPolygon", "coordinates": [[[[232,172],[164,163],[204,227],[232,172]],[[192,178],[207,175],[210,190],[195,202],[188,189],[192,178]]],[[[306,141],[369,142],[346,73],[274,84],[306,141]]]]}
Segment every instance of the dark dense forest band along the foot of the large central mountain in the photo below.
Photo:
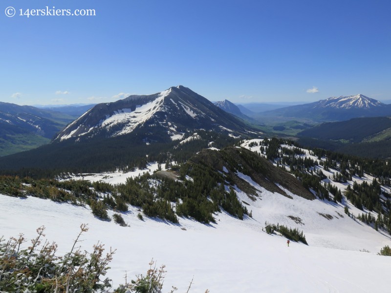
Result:
{"type": "MultiPolygon", "coordinates": [[[[1,157],[0,174],[38,179],[54,178],[64,173],[97,173],[117,169],[126,172],[135,167],[144,168],[151,161],[160,164],[168,162],[168,165],[172,161],[184,163],[196,152],[207,148],[210,141],[213,141],[217,148],[233,145],[238,141],[214,131],[197,130],[200,139],[179,144],[166,135],[167,131],[159,132],[159,129],[153,129],[155,133],[148,136],[151,139],[154,136],[155,139],[146,145],[143,141],[145,135],[137,135],[143,131],[141,128],[135,129],[128,135],[96,137],[78,143],[75,143],[74,139],[69,139],[28,152],[1,157]],[[146,154],[148,154],[148,162],[146,154]]],[[[146,131],[150,132],[150,130],[146,131]]]]}

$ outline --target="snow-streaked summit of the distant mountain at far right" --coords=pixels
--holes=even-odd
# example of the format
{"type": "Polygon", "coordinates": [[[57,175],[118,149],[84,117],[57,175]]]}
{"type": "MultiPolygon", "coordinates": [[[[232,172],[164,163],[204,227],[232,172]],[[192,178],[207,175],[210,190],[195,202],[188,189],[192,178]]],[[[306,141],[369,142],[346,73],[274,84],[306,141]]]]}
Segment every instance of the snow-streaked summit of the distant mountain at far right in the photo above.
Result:
{"type": "Polygon", "coordinates": [[[340,97],[332,97],[326,100],[319,101],[315,107],[322,108],[336,108],[336,109],[371,109],[373,107],[384,106],[385,104],[375,100],[368,98],[362,94],[352,95],[352,96],[340,96],[340,97]]]}

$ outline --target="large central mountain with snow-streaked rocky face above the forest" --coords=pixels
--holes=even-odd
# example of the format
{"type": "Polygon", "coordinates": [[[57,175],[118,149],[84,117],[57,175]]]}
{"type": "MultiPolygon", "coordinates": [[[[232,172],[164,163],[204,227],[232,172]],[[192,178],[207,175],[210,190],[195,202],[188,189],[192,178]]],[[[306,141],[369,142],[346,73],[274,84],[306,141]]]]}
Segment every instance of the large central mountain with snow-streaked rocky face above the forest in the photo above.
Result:
{"type": "Polygon", "coordinates": [[[146,141],[176,140],[197,129],[231,135],[247,133],[246,126],[235,117],[179,85],[152,95],[132,95],[95,105],[60,132],[55,141],[115,137],[134,131],[141,132],[146,141]]]}

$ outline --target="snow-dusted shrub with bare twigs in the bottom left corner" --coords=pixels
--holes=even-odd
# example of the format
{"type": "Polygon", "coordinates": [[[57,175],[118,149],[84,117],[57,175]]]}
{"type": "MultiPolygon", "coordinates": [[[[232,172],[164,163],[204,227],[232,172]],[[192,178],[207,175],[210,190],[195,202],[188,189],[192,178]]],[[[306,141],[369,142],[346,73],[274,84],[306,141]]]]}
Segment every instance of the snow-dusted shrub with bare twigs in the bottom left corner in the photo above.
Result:
{"type": "Polygon", "coordinates": [[[104,245],[94,245],[92,252],[82,252],[76,245],[86,232],[87,225],[80,226],[73,247],[63,257],[55,255],[57,245],[43,241],[44,227],[37,229],[38,236],[32,245],[23,248],[23,235],[0,239],[0,288],[4,292],[106,292],[110,280],[101,278],[109,269],[108,264],[115,251],[103,254],[104,245]],[[41,245],[41,243],[43,243],[41,245]]]}

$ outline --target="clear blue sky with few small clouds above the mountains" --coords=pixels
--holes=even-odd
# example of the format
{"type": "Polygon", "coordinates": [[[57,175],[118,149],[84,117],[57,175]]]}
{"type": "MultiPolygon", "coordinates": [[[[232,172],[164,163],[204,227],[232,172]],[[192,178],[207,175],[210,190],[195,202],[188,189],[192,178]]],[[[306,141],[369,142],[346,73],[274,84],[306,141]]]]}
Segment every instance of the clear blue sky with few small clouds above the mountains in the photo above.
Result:
{"type": "Polygon", "coordinates": [[[178,84],[236,103],[390,100],[390,13],[388,0],[2,0],[0,100],[101,103],[178,84]],[[19,15],[45,6],[96,16],[19,15]]]}

